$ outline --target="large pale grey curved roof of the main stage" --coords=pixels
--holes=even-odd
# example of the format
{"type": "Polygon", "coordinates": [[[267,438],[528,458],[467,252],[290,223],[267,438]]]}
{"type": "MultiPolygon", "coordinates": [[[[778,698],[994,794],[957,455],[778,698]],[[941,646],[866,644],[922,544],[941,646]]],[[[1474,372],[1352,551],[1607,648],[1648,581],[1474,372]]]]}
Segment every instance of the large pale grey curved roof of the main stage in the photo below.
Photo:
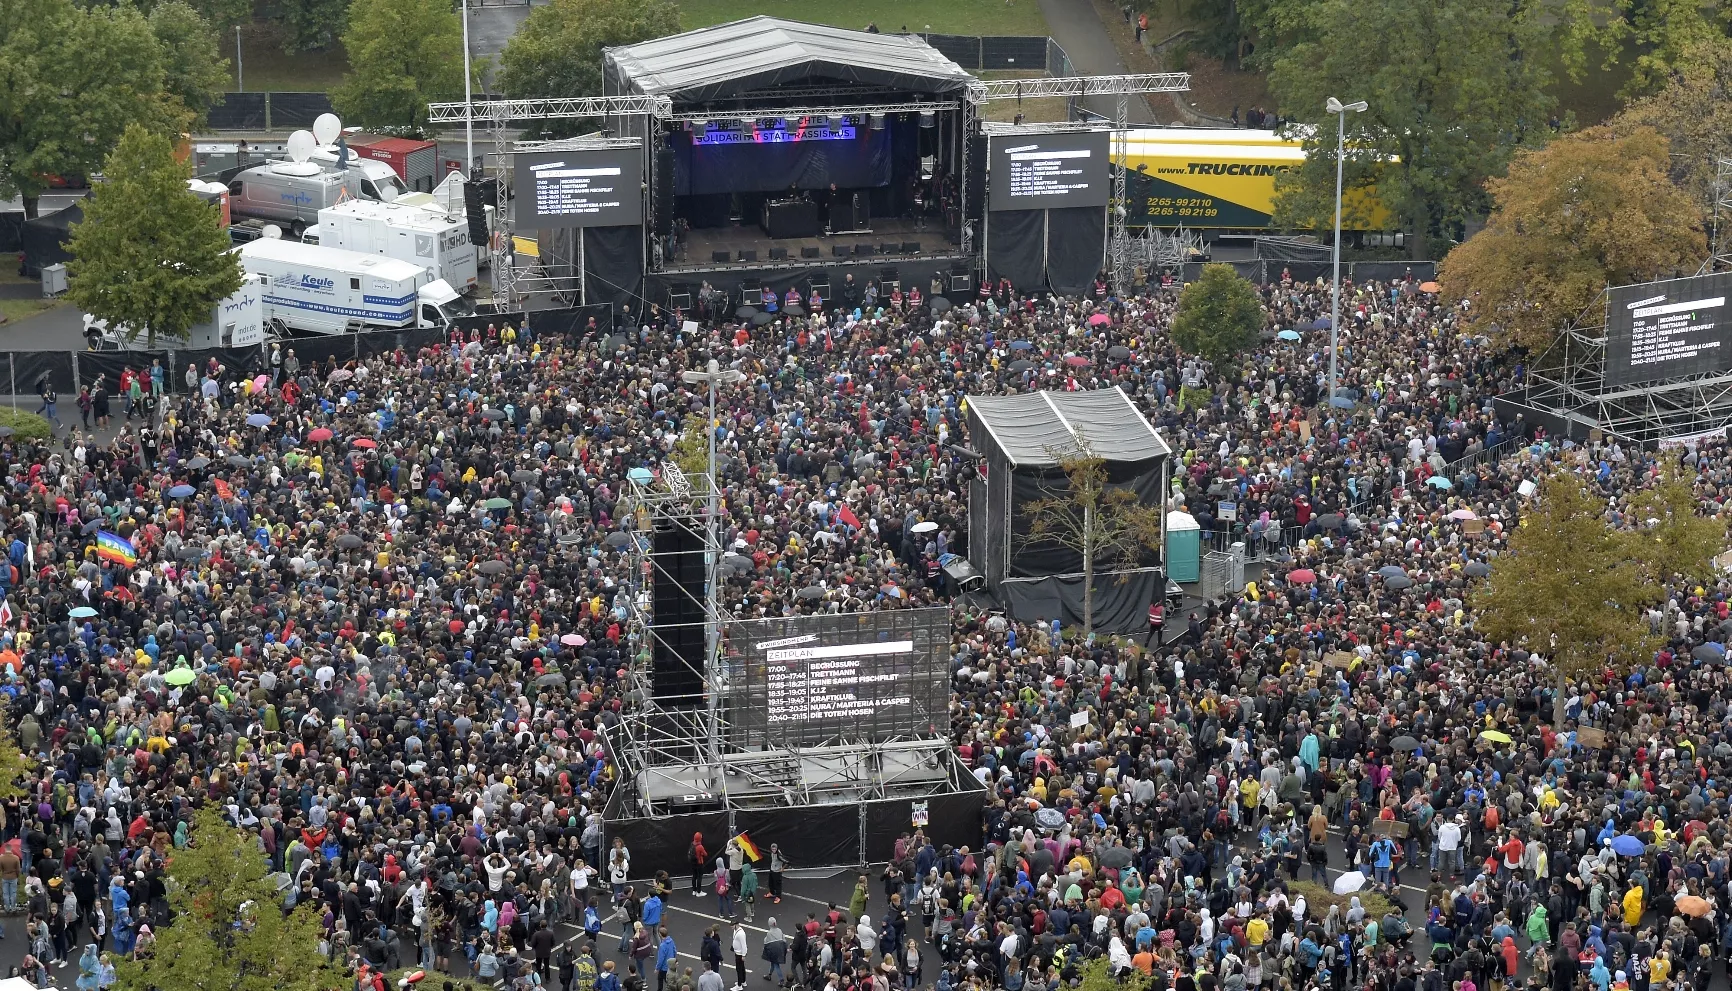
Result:
{"type": "Polygon", "coordinates": [[[632,92],[688,104],[814,76],[914,94],[956,94],[973,78],[916,35],[766,16],[606,49],[606,59],[632,92]]]}

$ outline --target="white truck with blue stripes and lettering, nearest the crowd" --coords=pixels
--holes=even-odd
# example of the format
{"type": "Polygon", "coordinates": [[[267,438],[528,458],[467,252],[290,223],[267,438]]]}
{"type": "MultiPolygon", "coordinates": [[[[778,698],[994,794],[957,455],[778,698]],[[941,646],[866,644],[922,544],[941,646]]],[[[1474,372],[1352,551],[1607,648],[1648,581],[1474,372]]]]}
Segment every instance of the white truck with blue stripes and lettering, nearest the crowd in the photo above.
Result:
{"type": "Polygon", "coordinates": [[[268,237],[237,251],[265,277],[265,324],[281,336],[443,329],[471,310],[426,265],[268,237]]]}

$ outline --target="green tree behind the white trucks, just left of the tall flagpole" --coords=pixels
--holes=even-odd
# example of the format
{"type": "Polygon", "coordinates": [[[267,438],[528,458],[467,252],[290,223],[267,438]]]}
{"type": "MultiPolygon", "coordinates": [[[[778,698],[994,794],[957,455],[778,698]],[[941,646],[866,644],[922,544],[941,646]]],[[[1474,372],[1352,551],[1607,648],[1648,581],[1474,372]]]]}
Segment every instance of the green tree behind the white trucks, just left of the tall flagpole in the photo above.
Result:
{"type": "Polygon", "coordinates": [[[350,73],[331,102],[348,123],[421,126],[430,102],[462,95],[462,21],[450,0],[355,0],[343,47],[350,73]]]}

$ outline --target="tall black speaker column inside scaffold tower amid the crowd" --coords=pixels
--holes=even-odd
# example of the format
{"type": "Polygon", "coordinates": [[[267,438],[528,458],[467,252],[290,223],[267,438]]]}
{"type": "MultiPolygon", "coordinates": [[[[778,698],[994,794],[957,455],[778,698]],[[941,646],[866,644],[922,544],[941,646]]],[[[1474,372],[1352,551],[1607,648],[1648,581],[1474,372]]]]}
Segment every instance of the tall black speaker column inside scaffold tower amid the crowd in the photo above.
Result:
{"type": "Polygon", "coordinates": [[[703,705],[705,589],[703,535],[670,521],[650,542],[653,580],[651,698],[663,709],[703,705]]]}

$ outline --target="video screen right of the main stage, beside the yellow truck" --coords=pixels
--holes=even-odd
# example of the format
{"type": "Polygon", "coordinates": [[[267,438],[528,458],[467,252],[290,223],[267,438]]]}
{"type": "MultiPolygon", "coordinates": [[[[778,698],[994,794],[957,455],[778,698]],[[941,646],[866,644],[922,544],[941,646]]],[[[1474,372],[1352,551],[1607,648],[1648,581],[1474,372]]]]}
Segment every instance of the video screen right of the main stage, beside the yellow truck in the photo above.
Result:
{"type": "Polygon", "coordinates": [[[987,152],[989,210],[1107,206],[1112,192],[1110,132],[992,135],[987,152]]]}

